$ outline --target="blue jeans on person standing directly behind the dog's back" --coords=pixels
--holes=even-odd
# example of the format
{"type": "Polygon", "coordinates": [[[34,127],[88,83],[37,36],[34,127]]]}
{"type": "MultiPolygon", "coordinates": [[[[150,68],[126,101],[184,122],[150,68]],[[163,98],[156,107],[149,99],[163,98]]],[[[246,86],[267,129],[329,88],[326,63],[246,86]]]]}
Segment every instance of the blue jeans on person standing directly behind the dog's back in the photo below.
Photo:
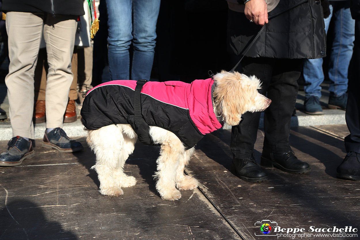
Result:
{"type": "Polygon", "coordinates": [[[150,80],[160,0],[106,0],[106,4],[111,80],[150,80]]]}

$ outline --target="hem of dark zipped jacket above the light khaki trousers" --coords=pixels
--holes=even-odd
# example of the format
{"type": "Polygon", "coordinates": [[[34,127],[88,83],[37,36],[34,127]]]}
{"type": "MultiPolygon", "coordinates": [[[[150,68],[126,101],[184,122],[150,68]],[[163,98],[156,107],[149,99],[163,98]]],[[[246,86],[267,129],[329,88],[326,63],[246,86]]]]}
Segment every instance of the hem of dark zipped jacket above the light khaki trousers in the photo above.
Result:
{"type": "Polygon", "coordinates": [[[81,16],[85,14],[82,0],[3,0],[4,12],[51,13],[81,16]]]}

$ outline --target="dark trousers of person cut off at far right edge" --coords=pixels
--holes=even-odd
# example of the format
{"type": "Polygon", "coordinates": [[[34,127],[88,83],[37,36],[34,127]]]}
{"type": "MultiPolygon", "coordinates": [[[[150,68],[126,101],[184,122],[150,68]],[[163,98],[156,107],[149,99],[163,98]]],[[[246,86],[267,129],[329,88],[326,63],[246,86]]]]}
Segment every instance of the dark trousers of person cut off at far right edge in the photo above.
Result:
{"type": "Polygon", "coordinates": [[[349,67],[345,119],[350,134],[345,137],[347,152],[360,153],[360,20],[355,20],[354,52],[349,67]]]}

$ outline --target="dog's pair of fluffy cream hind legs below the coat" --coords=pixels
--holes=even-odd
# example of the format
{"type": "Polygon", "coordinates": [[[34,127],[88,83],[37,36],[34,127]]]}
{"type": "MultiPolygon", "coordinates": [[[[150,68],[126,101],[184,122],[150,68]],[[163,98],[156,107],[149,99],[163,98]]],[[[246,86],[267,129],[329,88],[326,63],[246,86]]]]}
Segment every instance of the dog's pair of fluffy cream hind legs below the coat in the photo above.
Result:
{"type": "Polygon", "coordinates": [[[98,173],[100,193],[109,196],[123,194],[121,187],[134,186],[136,180],[123,172],[126,159],[134,150],[136,139],[124,133],[123,125],[109,125],[90,130],[87,142],[96,155],[92,167],[98,173]]]}

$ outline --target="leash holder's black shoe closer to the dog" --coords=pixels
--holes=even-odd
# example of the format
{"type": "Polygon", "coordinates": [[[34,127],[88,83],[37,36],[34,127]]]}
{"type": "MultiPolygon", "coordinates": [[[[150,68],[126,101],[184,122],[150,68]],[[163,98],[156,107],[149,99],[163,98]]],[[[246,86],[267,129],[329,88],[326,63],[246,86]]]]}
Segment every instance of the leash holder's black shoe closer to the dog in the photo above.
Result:
{"type": "Polygon", "coordinates": [[[240,179],[248,182],[262,182],[267,176],[256,163],[253,156],[250,159],[233,159],[231,171],[240,179]]]}

